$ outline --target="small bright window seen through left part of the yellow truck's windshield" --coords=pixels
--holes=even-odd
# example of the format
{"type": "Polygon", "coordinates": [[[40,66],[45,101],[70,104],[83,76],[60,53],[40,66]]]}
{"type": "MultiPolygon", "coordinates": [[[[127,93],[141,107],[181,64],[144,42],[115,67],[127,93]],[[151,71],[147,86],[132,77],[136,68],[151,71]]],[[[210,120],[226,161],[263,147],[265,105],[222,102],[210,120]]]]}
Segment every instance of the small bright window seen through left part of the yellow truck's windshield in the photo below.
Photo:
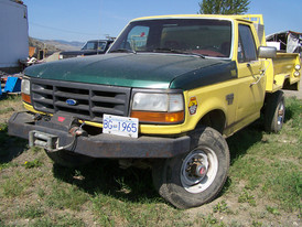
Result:
{"type": "Polygon", "coordinates": [[[134,26],[128,34],[127,44],[133,51],[145,51],[149,26],[134,26]]]}

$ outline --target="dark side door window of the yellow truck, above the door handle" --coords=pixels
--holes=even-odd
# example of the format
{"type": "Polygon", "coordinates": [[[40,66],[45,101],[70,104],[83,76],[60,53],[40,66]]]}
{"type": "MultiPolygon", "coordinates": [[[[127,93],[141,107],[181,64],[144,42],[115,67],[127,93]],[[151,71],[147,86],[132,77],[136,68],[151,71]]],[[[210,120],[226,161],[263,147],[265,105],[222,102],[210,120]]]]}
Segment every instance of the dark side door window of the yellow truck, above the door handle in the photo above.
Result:
{"type": "Polygon", "coordinates": [[[256,44],[248,25],[239,24],[238,62],[251,62],[257,60],[256,44]]]}

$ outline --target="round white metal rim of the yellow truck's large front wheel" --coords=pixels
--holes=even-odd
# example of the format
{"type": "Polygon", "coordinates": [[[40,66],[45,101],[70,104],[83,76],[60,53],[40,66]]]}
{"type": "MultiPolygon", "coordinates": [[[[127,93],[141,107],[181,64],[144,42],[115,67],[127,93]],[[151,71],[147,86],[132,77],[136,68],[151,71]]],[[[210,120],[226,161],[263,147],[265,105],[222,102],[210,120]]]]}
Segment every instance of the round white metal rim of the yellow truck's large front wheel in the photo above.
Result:
{"type": "Polygon", "coordinates": [[[190,193],[205,191],[215,180],[218,172],[218,159],[209,148],[190,152],[183,161],[181,182],[190,193]]]}

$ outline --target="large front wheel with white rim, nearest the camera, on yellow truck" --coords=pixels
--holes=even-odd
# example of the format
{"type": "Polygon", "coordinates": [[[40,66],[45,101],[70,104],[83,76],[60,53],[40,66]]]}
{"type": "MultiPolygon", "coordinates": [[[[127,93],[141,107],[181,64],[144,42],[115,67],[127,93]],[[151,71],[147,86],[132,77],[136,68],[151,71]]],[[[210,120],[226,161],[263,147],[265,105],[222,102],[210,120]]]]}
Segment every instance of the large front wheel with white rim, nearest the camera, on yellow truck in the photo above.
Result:
{"type": "Polygon", "coordinates": [[[192,151],[154,165],[153,182],[160,195],[175,207],[196,207],[216,197],[228,167],[225,139],[218,131],[204,128],[192,151]]]}

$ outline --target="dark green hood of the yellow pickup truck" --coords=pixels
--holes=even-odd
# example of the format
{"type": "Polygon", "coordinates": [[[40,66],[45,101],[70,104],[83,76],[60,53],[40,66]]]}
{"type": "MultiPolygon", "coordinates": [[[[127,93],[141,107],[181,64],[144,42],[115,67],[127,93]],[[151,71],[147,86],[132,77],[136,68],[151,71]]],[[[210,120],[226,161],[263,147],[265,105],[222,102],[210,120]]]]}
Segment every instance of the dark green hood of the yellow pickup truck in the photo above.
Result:
{"type": "MultiPolygon", "coordinates": [[[[26,76],[125,86],[137,88],[182,88],[194,86],[190,75],[202,75],[203,68],[229,64],[230,61],[202,58],[179,54],[125,54],[112,53],[87,57],[75,57],[28,67],[26,76]]],[[[223,67],[225,68],[225,67],[223,67]]],[[[204,80],[204,79],[203,79],[204,80]]]]}

